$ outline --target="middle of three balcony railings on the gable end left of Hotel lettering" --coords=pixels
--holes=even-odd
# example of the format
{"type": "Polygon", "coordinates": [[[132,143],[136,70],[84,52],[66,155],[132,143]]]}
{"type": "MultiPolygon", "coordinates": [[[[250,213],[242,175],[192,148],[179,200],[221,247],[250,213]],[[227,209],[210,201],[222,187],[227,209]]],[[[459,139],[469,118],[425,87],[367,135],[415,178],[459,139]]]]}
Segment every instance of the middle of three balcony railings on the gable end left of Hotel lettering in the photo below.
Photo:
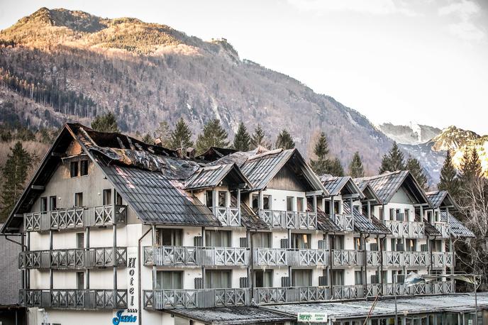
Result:
{"type": "Polygon", "coordinates": [[[31,250],[18,254],[20,269],[79,269],[126,266],[127,248],[73,248],[59,250],[31,250]]]}

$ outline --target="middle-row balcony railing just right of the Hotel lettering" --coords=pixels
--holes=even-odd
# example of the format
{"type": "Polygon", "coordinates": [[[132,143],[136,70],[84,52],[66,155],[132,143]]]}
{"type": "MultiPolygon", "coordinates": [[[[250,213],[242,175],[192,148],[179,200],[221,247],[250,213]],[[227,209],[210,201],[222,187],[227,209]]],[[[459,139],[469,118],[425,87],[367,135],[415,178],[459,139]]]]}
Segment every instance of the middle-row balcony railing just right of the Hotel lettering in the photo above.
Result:
{"type": "Polygon", "coordinates": [[[193,246],[146,246],[144,248],[144,265],[233,266],[248,264],[248,248],[193,246]]]}

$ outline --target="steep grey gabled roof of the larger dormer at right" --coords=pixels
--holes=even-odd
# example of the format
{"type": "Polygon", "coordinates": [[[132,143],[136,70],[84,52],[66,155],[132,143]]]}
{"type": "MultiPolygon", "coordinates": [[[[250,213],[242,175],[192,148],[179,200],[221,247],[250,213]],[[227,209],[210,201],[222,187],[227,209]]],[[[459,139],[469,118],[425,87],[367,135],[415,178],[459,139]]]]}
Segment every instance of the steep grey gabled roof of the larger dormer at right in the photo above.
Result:
{"type": "Polygon", "coordinates": [[[383,204],[388,204],[394,194],[401,187],[405,187],[418,203],[431,206],[431,202],[423,192],[423,189],[421,189],[420,185],[418,185],[418,182],[415,180],[415,177],[412,176],[408,170],[384,172],[381,175],[361,177],[357,180],[357,182],[365,181],[371,184],[383,204]]]}

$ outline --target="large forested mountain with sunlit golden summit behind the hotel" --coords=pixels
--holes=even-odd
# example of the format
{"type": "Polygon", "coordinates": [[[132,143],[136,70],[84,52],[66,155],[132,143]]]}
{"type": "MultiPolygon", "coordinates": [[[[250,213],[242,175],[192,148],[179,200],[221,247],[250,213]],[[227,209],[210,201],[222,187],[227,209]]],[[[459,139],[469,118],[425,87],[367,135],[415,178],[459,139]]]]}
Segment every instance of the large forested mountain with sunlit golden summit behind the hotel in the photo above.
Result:
{"type": "Polygon", "coordinates": [[[261,123],[275,141],[287,128],[304,153],[325,131],[345,165],[359,150],[376,172],[392,141],[354,109],[301,82],[241,60],[226,39],[204,41],[135,18],[42,8],[0,32],[1,123],[31,128],[88,124],[112,111],[122,131],[154,131],[183,116],[194,136],[219,119],[261,123]]]}

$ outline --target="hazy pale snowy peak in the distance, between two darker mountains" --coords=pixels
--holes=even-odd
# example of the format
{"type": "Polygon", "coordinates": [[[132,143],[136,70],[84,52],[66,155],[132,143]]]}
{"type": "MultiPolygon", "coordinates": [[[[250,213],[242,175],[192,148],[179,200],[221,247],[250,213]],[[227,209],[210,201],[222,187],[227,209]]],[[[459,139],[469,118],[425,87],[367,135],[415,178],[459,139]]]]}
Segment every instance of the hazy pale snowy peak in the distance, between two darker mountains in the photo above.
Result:
{"type": "Polygon", "coordinates": [[[392,123],[383,123],[378,126],[379,130],[397,143],[406,145],[418,145],[426,143],[431,138],[438,136],[442,130],[433,126],[424,126],[410,122],[406,126],[396,126],[392,123]]]}

